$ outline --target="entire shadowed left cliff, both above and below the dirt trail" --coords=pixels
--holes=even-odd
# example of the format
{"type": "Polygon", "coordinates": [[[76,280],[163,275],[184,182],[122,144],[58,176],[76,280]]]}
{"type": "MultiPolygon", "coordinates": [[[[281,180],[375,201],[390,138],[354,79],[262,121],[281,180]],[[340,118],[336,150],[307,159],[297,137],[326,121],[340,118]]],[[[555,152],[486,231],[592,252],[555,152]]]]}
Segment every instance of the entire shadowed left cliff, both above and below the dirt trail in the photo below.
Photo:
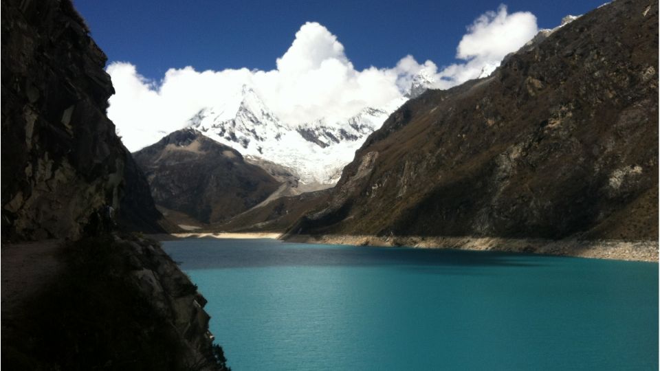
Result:
{"type": "Polygon", "coordinates": [[[124,229],[163,231],[148,183],[105,115],[113,87],[85,22],[70,0],[1,4],[3,254],[8,240],[78,240],[59,248],[64,267],[47,289],[12,308],[10,322],[3,312],[3,366],[223,370],[206,301],[157,243],[79,240],[98,232],[104,205],[119,210],[124,229]]]}

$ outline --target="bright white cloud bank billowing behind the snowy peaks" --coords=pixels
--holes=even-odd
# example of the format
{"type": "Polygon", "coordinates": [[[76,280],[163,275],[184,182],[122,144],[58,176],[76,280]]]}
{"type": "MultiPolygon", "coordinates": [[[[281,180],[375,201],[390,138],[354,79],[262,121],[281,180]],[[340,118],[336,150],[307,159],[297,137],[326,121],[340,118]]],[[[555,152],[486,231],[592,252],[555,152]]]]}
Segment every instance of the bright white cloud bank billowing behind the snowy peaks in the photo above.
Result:
{"type": "Polygon", "coordinates": [[[412,56],[390,69],[359,71],[337,37],[319,23],[300,27],[272,71],[243,68],[200,72],[185,67],[169,69],[162,81],[153,82],[140,76],[131,63],[115,62],[107,67],[116,91],[109,100],[108,116],[129,150],[183,128],[203,107],[235,100],[243,85],[252,86],[288,124],[321,117],[342,120],[365,106],[381,107],[400,100],[412,77],[422,70],[441,89],[476,78],[485,65],[499,63],[536,34],[536,17],[527,12],[507,14],[501,5],[497,12],[476,19],[467,31],[456,54],[465,62],[439,72],[432,61],[419,64],[412,56]]]}

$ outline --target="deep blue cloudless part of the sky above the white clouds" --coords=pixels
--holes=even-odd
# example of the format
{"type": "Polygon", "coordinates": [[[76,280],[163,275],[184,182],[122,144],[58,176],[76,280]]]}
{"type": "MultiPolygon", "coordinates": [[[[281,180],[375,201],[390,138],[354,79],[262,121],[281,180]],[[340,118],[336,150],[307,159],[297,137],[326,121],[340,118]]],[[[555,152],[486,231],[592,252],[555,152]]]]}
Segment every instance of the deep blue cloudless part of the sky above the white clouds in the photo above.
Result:
{"type": "Polygon", "coordinates": [[[335,34],[356,69],[392,67],[411,54],[439,66],[454,62],[467,25],[500,3],[529,11],[538,27],[583,14],[604,0],[558,1],[180,1],[74,0],[109,61],[129,61],[143,76],[170,67],[202,71],[270,70],[306,21],[335,34]]]}

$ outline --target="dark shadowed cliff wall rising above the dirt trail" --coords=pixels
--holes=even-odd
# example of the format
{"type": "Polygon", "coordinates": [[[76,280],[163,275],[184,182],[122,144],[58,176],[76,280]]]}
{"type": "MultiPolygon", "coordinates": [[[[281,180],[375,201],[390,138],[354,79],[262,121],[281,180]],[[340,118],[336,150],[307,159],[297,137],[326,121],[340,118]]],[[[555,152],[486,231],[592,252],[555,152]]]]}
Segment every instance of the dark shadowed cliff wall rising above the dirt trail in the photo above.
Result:
{"type": "Polygon", "coordinates": [[[106,203],[163,230],[105,115],[105,62],[70,1],[2,1],[3,239],[78,238],[106,203]]]}

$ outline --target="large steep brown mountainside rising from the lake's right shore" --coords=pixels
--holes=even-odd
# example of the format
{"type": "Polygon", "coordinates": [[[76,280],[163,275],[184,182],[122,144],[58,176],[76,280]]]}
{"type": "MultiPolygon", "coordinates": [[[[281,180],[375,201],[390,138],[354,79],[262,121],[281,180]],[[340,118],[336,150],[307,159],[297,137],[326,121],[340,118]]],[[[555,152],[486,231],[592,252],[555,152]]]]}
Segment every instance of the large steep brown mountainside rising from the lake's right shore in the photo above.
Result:
{"type": "Polygon", "coordinates": [[[292,234],[658,236],[658,3],[617,0],[427,91],[292,234]]]}

